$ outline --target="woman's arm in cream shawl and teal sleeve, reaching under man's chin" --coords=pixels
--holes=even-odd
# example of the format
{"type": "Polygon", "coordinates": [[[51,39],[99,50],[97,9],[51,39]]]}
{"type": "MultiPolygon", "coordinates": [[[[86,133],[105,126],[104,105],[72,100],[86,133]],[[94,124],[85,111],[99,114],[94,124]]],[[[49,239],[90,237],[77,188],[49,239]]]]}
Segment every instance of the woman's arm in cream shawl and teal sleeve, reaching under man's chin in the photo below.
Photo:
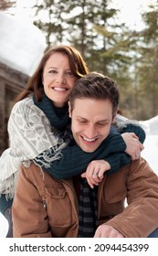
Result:
{"type": "MultiPolygon", "coordinates": [[[[98,155],[100,159],[104,159],[109,154],[124,152],[126,149],[120,133],[110,134],[100,148],[91,154],[82,152],[77,145],[65,148],[67,144],[59,139],[57,130],[51,131],[45,113],[37,108],[31,98],[16,103],[8,123],[8,130],[10,151],[5,156],[7,161],[3,161],[2,158],[0,161],[0,169],[4,170],[0,177],[3,184],[6,178],[10,178],[18,171],[22,162],[31,159],[50,175],[67,178],[84,172],[90,161],[98,155]]],[[[12,180],[13,178],[11,182],[12,180]]]]}

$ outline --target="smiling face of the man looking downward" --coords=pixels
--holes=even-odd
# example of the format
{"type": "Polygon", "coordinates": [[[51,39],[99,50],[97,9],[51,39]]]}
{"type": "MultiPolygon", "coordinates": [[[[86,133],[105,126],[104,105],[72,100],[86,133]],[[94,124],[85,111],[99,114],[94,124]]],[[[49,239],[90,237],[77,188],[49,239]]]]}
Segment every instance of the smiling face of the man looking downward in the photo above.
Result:
{"type": "Polygon", "coordinates": [[[72,112],[69,106],[69,116],[76,143],[91,153],[110,133],[112,104],[109,100],[76,99],[72,112]]]}

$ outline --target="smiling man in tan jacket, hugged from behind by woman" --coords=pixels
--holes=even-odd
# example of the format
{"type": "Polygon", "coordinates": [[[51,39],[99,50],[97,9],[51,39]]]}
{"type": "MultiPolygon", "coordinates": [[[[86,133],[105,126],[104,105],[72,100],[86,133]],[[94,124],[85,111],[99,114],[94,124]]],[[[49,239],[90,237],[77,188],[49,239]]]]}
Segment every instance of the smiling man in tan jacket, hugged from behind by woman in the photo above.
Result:
{"type": "MultiPolygon", "coordinates": [[[[97,73],[80,79],[71,91],[71,129],[86,154],[109,135],[118,104],[116,83],[97,73]]],[[[112,175],[102,176],[101,166],[98,160],[90,168],[98,178],[94,189],[79,176],[59,181],[37,165],[22,166],[13,203],[14,236],[148,237],[158,227],[158,177],[142,157],[112,175]]]]}

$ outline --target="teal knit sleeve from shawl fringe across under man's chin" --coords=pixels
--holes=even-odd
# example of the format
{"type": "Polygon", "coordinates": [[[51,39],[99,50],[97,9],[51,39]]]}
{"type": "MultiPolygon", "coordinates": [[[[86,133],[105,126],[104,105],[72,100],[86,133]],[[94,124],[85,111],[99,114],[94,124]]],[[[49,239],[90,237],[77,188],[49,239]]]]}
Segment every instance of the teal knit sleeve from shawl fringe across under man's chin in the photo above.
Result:
{"type": "Polygon", "coordinates": [[[111,153],[124,152],[125,148],[126,145],[121,135],[111,133],[102,144],[100,144],[100,147],[92,153],[83,152],[76,144],[64,148],[62,150],[62,157],[57,161],[50,162],[49,166],[41,166],[41,163],[44,163],[42,155],[38,155],[34,161],[35,164],[40,165],[49,175],[65,179],[83,173],[87,165],[97,156],[101,159],[111,153]]]}

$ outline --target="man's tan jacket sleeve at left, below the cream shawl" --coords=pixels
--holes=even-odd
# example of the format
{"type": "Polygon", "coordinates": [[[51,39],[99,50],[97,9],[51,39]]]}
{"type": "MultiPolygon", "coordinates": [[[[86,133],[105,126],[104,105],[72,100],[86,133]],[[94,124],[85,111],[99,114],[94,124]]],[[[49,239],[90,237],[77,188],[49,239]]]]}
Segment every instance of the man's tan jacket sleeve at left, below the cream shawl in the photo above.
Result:
{"type": "Polygon", "coordinates": [[[16,195],[12,205],[14,237],[50,238],[47,210],[43,207],[37,182],[31,172],[31,168],[22,167],[18,176],[16,195]],[[25,196],[24,191],[26,191],[25,196]]]}

